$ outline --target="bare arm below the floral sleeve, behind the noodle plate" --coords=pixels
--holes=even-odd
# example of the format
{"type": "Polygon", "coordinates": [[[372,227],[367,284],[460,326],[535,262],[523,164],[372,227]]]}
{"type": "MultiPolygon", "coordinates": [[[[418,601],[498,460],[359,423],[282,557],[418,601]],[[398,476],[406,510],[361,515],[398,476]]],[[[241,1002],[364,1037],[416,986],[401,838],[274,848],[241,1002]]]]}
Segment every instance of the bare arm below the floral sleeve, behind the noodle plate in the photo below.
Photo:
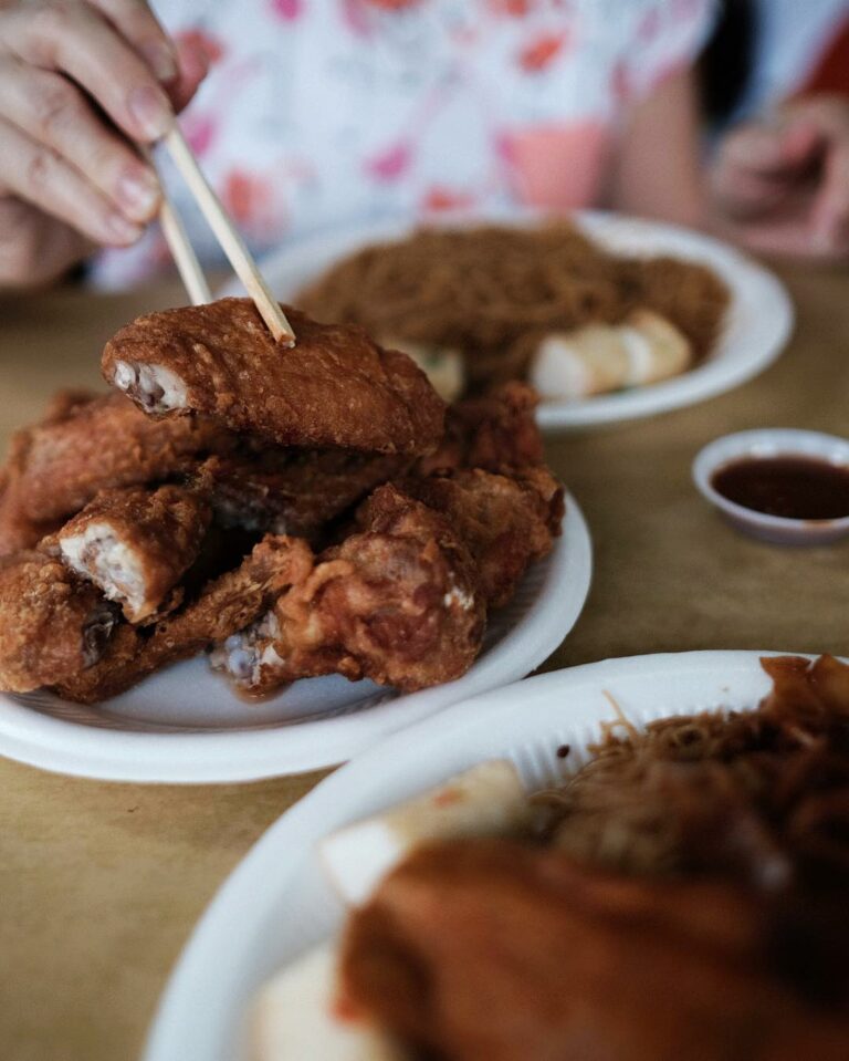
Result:
{"type": "Polygon", "coordinates": [[[625,214],[704,226],[698,110],[688,69],[665,77],[626,116],[611,191],[614,208],[625,214]]]}

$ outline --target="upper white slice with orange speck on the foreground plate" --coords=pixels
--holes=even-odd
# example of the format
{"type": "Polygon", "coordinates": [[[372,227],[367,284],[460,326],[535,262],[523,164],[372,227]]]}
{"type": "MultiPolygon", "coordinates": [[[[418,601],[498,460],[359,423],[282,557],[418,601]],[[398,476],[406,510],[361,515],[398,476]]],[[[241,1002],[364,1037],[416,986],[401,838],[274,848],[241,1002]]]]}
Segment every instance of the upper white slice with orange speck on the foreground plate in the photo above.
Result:
{"type": "Polygon", "coordinates": [[[528,820],[516,768],[506,759],[491,759],[382,814],[331,833],[318,844],[318,854],[342,898],[359,905],[423,841],[513,835],[528,820]]]}

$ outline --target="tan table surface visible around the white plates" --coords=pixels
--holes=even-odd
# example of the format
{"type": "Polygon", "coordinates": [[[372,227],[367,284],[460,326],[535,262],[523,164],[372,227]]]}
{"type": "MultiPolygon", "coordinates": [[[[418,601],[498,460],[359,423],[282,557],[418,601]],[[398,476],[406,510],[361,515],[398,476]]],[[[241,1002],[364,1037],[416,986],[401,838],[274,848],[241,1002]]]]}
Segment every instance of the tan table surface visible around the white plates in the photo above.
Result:
{"type": "MultiPolygon", "coordinates": [[[[696,495],[696,450],[757,426],[847,434],[849,282],[786,270],[796,336],[758,379],[694,408],[553,440],[555,469],[589,521],[594,585],[546,664],[648,652],[846,653],[849,544],[750,541],[696,495]]],[[[0,299],[0,435],[59,386],[97,381],[118,325],[174,289],[0,299]]],[[[0,760],[0,1055],[129,1061],[189,930],[261,832],[319,778],[143,787],[81,781],[0,760]]],[[[222,960],[227,960],[224,955],[222,960]]]]}

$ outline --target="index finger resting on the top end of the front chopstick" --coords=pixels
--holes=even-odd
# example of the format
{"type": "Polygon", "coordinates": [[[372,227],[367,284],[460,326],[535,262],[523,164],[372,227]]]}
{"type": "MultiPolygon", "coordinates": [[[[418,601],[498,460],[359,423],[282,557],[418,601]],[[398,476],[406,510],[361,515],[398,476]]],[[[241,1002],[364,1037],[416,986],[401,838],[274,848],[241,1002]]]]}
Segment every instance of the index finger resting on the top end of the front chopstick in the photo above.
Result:
{"type": "Polygon", "coordinates": [[[171,127],[171,105],[147,63],[93,7],[65,0],[43,3],[34,13],[31,6],[12,10],[4,18],[14,54],[67,74],[130,139],[155,141],[171,127]]]}

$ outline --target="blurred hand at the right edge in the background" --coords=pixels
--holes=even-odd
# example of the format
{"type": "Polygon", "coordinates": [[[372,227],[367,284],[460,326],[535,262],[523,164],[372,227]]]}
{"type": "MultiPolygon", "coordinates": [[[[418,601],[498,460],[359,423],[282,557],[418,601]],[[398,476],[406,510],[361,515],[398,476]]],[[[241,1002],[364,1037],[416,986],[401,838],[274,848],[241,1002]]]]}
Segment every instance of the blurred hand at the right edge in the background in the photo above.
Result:
{"type": "Polygon", "coordinates": [[[811,96],[733,129],[711,176],[721,220],[753,250],[849,258],[849,101],[811,96]]]}

